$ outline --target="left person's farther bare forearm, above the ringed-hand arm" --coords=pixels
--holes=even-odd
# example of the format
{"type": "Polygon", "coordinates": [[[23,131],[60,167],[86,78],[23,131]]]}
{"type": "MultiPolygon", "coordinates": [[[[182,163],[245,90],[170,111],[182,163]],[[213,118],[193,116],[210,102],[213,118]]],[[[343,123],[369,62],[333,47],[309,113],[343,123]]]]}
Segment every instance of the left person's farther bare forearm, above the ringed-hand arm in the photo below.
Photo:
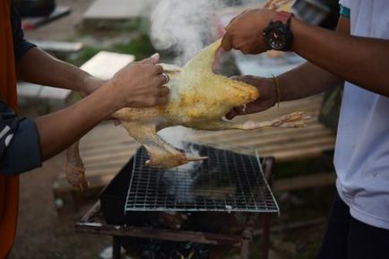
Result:
{"type": "Polygon", "coordinates": [[[18,77],[26,82],[81,91],[90,76],[79,68],[56,59],[33,47],[17,65],[18,77]]]}

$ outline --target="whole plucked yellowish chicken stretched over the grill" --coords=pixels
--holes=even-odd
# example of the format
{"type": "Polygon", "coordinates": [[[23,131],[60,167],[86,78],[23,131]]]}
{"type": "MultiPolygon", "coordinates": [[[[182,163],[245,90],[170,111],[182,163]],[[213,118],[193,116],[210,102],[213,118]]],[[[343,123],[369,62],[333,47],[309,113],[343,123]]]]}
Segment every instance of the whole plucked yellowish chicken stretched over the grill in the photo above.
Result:
{"type": "MultiPolygon", "coordinates": [[[[245,82],[231,80],[212,72],[220,40],[205,47],[182,69],[175,65],[162,65],[169,74],[169,102],[155,108],[122,108],[113,117],[117,118],[137,142],[149,153],[147,165],[173,168],[192,160],[185,151],[178,150],[163,141],[157,132],[160,129],[184,125],[198,130],[253,130],[263,127],[304,126],[301,112],[292,113],[272,121],[234,123],[223,120],[231,108],[244,106],[254,101],[260,93],[245,82]]],[[[65,166],[66,177],[73,186],[87,187],[84,168],[78,152],[78,143],[68,150],[65,166]]]]}

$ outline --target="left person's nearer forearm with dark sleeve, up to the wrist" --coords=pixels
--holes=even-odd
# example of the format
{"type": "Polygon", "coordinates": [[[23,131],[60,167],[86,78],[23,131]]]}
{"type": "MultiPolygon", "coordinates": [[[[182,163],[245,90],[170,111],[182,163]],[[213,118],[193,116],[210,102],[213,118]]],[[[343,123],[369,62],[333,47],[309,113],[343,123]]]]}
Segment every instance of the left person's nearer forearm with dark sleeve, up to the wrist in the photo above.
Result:
{"type": "Polygon", "coordinates": [[[18,118],[13,110],[0,102],[0,172],[15,175],[38,168],[83,134],[97,125],[104,115],[114,110],[112,102],[102,99],[108,94],[102,86],[86,99],[45,117],[31,120],[18,118]],[[96,102],[99,105],[95,105],[96,102]]]}

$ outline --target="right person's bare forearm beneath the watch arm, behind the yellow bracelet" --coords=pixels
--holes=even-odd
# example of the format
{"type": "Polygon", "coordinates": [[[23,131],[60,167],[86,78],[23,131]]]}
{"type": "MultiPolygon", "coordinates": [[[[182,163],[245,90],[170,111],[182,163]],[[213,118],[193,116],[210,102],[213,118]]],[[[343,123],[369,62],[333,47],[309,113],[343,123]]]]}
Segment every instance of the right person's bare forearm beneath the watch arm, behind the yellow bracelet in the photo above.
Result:
{"type": "Polygon", "coordinates": [[[309,62],[278,77],[281,101],[306,98],[341,83],[341,79],[309,62]]]}

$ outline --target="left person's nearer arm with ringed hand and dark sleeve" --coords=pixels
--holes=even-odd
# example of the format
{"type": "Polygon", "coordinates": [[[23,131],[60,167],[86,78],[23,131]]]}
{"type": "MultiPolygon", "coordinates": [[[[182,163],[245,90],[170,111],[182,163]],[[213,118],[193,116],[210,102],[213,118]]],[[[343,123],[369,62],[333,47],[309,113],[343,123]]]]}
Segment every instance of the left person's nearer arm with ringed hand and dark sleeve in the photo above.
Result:
{"type": "MultiPolygon", "coordinates": [[[[127,65],[112,80],[85,99],[69,108],[39,117],[35,124],[29,126],[29,134],[26,134],[30,142],[22,142],[17,137],[17,134],[21,133],[20,128],[13,127],[14,131],[10,132],[13,134],[12,141],[0,156],[1,164],[4,165],[0,171],[16,174],[30,169],[31,165],[16,167],[14,160],[3,162],[7,157],[13,157],[18,152],[25,153],[27,149],[31,152],[39,151],[39,154],[30,153],[30,155],[38,155],[34,160],[34,166],[39,166],[37,160],[39,162],[48,160],[58,152],[64,151],[82,134],[119,108],[151,107],[166,102],[169,90],[163,86],[166,78],[161,74],[162,67],[155,65],[157,62],[158,56],[154,56],[141,63],[127,65]]],[[[20,119],[14,117],[9,124],[20,125],[20,119]]]]}

